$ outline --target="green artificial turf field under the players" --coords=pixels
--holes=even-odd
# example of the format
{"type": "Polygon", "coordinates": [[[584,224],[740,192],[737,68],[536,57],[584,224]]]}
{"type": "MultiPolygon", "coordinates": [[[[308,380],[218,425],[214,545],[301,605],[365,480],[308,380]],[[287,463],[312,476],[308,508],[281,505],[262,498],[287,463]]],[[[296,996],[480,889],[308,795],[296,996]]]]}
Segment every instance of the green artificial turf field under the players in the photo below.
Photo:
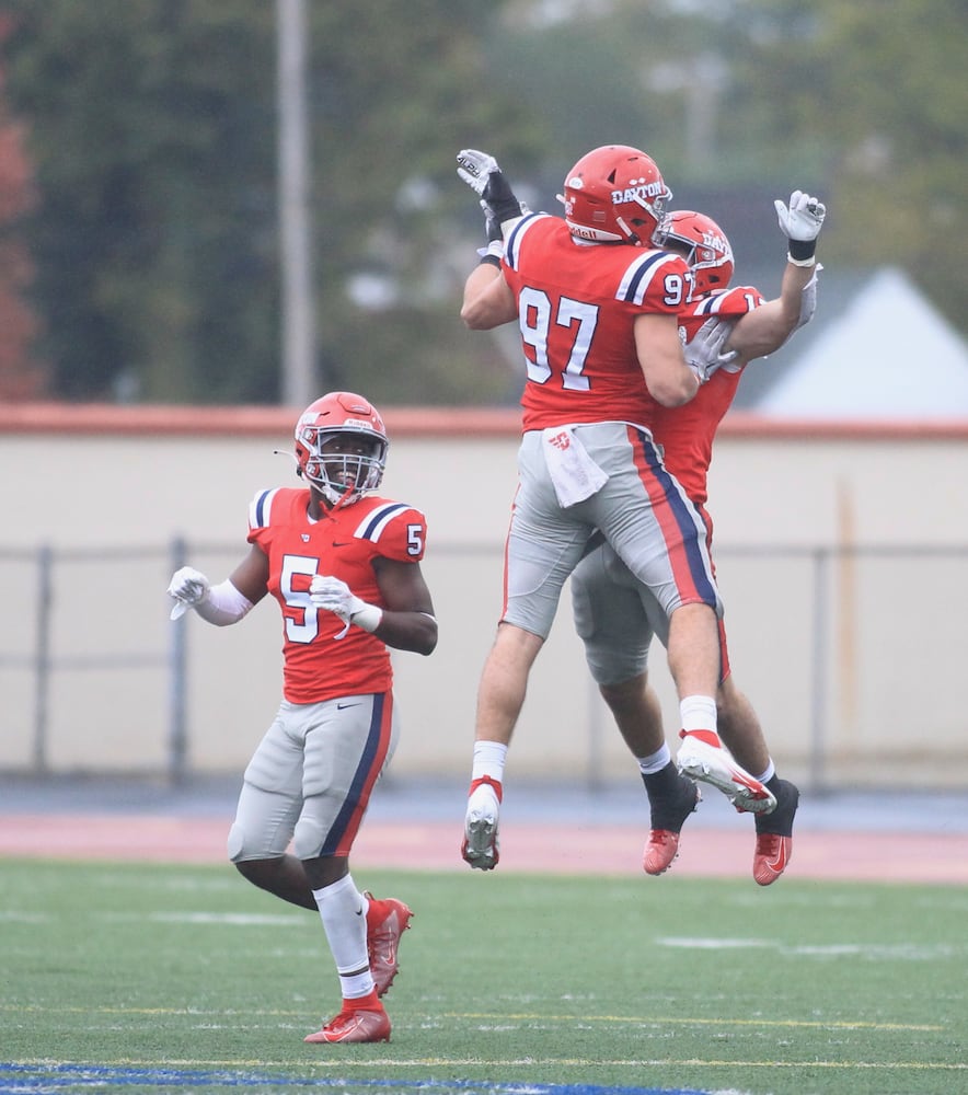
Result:
{"type": "Polygon", "coordinates": [[[389,1045],[303,1044],[320,920],[229,866],[0,860],[0,1090],[968,1091],[964,888],[355,877],[415,912],[389,1045]]]}

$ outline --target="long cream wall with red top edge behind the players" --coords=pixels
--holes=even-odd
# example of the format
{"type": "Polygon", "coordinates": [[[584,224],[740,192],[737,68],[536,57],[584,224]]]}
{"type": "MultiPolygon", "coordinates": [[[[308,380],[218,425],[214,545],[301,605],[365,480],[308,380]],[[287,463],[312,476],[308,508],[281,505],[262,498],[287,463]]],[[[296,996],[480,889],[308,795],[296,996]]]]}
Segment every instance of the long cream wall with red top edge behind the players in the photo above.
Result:
{"type": "MultiPolygon", "coordinates": [[[[296,415],[280,410],[0,410],[0,769],[158,771],[169,764],[164,593],[170,544],[220,579],[246,550],[246,507],[295,482],[296,415]],[[37,551],[53,565],[50,667],[32,656],[37,551]],[[108,662],[108,664],[105,664],[108,662]],[[42,728],[38,742],[37,730],[42,728]]],[[[430,658],[394,654],[404,736],[394,770],[463,783],[477,676],[500,602],[515,487],[515,411],[385,414],[385,493],[429,522],[424,569],[440,621],[430,658]]],[[[968,423],[724,424],[711,497],[734,672],[785,773],[815,785],[968,786],[957,682],[968,642],[968,423]]],[[[194,615],[187,760],[241,772],[279,695],[280,624],[194,615]]],[[[653,656],[670,733],[665,654],[653,656]]],[[[520,776],[630,774],[562,610],[532,676],[509,768],[520,776]]]]}

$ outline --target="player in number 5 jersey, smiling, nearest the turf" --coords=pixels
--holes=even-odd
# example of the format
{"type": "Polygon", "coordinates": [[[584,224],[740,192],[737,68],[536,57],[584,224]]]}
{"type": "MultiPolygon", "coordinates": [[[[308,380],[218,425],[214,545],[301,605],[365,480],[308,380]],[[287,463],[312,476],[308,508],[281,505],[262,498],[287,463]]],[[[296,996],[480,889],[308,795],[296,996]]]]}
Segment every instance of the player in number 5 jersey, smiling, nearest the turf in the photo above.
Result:
{"type": "Polygon", "coordinates": [[[412,917],[403,901],[360,892],[349,872],[400,731],[388,647],[428,655],[437,645],[424,515],[372,493],[388,447],[361,395],[316,400],[296,424],[306,485],[255,495],[249,553],[224,581],[186,566],[168,589],[173,618],[191,607],[217,626],[267,593],[281,610],[283,701],[245,770],[228,852],[249,881],[322,918],[343,1003],[308,1042],[390,1040],[380,998],[412,917]]]}

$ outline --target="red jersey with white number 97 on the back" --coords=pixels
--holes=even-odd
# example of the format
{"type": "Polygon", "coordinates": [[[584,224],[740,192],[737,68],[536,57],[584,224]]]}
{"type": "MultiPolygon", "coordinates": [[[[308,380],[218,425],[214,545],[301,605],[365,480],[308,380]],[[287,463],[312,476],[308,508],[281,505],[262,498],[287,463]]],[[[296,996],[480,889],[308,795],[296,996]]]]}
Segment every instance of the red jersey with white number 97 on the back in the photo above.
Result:
{"type": "Polygon", "coordinates": [[[518,302],[527,360],[523,427],[576,422],[647,425],[658,406],[635,351],[643,312],[678,314],[692,275],[666,251],[578,243],[558,217],[525,217],[504,275],[518,302]]]}

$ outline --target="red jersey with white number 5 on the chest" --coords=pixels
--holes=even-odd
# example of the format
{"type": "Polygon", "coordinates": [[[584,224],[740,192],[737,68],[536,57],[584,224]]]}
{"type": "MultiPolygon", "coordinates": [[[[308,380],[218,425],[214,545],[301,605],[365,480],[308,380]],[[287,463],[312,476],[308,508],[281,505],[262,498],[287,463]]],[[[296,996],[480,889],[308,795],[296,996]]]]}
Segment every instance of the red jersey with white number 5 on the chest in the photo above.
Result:
{"type": "Polygon", "coordinates": [[[342,578],[357,597],[382,606],[374,558],[418,563],[424,515],[399,502],[366,497],[314,521],[309,491],[262,491],[249,508],[249,542],[269,561],[269,592],[283,610],[283,694],[290,703],[385,692],[393,683],[390,652],[374,635],[350,627],[309,599],[313,575],[342,578]]]}

